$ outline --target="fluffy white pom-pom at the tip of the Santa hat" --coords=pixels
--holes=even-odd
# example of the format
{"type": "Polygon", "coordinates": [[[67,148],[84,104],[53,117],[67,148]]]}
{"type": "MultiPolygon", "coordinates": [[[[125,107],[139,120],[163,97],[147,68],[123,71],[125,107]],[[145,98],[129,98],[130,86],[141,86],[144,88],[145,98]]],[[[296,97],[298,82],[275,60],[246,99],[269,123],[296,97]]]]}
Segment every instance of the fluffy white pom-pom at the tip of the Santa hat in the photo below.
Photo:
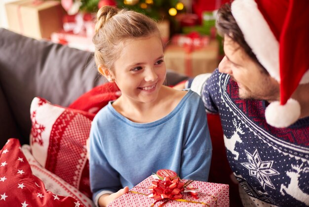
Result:
{"type": "Polygon", "coordinates": [[[288,127],[296,122],[301,115],[301,106],[294,100],[289,99],[286,104],[271,102],[265,110],[265,118],[269,125],[277,128],[288,127]]]}

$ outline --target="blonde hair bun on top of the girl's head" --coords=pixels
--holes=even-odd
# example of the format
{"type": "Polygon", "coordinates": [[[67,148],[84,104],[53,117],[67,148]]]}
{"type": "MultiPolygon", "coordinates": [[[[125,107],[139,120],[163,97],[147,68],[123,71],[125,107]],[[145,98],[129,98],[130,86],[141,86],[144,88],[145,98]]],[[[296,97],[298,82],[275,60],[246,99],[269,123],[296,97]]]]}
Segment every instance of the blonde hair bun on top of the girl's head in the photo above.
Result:
{"type": "Polygon", "coordinates": [[[114,6],[103,6],[97,13],[95,32],[97,33],[105,23],[118,13],[118,9],[114,6]]]}

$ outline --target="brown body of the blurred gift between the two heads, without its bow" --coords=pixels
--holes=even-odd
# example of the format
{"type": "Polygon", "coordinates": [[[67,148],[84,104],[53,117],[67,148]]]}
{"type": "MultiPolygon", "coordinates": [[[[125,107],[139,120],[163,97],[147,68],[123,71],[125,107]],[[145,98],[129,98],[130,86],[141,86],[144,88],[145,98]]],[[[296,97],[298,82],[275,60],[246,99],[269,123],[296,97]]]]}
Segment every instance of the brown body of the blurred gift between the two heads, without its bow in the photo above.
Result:
{"type": "Polygon", "coordinates": [[[212,72],[219,64],[219,42],[211,39],[207,45],[191,50],[186,46],[170,44],[166,47],[164,60],[167,69],[190,77],[212,72]]]}

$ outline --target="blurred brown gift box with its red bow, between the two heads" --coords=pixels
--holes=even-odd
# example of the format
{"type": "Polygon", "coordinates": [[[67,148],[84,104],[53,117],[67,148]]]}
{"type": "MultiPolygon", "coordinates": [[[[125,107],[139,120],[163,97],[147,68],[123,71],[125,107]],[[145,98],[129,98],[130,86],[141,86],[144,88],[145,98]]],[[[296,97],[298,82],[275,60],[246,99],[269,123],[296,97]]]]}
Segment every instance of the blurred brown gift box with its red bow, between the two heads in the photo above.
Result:
{"type": "Polygon", "coordinates": [[[219,63],[219,42],[196,32],[174,35],[166,46],[164,60],[167,69],[190,77],[212,72],[219,63]]]}

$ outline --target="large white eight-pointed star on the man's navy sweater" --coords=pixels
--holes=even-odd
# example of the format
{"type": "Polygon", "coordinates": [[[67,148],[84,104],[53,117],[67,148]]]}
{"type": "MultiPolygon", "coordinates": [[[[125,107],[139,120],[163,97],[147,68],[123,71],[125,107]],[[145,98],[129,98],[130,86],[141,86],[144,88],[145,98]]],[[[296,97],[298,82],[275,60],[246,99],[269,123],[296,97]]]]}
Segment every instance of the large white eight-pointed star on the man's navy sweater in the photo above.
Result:
{"type": "Polygon", "coordinates": [[[274,189],[270,176],[278,175],[279,173],[271,168],[273,161],[262,161],[258,150],[255,150],[253,155],[247,152],[247,150],[245,152],[249,162],[241,163],[241,165],[248,169],[250,176],[256,177],[264,188],[267,185],[274,189]]]}

